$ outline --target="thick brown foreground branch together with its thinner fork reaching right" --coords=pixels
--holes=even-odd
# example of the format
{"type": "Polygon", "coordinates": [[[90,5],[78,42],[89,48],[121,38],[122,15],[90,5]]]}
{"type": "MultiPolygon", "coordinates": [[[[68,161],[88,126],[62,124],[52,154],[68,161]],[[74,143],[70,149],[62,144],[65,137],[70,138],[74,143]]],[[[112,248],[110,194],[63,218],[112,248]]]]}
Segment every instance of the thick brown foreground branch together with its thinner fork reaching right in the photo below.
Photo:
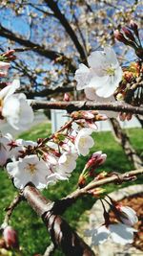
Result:
{"type": "Polygon", "coordinates": [[[92,181],[86,187],[77,189],[66,198],[51,202],[44,198],[33,186],[27,185],[23,191],[24,198],[27,199],[31,208],[45,222],[51,234],[51,240],[55,246],[61,246],[63,252],[68,256],[93,256],[92,249],[85,244],[81,238],[72,230],[70,225],[58,216],[72,205],[77,198],[89,195],[92,189],[117,181],[131,180],[135,175],[143,174],[143,168],[123,175],[112,175],[98,181],[92,181]]]}

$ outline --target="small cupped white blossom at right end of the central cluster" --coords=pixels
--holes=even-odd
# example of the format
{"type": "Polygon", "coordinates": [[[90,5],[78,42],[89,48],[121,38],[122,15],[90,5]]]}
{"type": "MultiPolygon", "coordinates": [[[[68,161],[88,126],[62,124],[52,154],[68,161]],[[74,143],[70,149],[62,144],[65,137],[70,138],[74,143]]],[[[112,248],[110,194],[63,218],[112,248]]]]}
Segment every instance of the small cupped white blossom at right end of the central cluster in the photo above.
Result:
{"type": "Polygon", "coordinates": [[[92,128],[81,128],[75,138],[75,148],[78,154],[87,155],[94,145],[94,141],[90,136],[92,128]]]}

